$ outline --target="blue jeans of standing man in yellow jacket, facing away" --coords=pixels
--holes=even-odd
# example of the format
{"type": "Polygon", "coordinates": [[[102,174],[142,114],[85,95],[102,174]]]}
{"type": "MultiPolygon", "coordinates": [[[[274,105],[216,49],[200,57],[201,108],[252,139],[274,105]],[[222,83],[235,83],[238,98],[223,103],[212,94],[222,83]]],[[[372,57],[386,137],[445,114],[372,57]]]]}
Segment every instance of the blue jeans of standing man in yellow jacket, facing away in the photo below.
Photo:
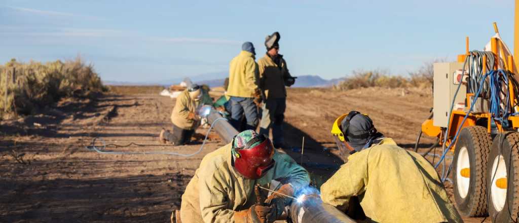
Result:
{"type": "Polygon", "coordinates": [[[256,130],[258,126],[258,110],[256,104],[254,104],[254,99],[252,97],[231,96],[229,103],[231,125],[238,130],[238,132],[249,129],[256,130]],[[240,128],[243,116],[245,116],[247,120],[245,129],[240,128]]]}

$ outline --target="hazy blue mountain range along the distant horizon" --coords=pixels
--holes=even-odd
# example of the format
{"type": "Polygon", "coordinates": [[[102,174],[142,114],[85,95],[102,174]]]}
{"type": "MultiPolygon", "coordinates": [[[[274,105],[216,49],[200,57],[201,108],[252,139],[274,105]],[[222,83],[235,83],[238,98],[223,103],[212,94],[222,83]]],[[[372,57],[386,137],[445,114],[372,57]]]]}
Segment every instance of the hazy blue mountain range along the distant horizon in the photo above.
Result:
{"type": "MultiPolygon", "coordinates": [[[[189,77],[191,81],[208,85],[209,87],[218,87],[224,85],[224,80],[228,76],[227,72],[206,73],[189,77]]],[[[177,85],[186,77],[175,77],[171,79],[159,81],[144,81],[144,82],[126,82],[126,81],[103,81],[105,85],[160,85],[170,86],[177,85]]],[[[323,79],[317,75],[302,75],[297,76],[295,84],[292,87],[296,88],[310,88],[310,87],[330,87],[338,83],[344,78],[335,78],[331,80],[323,79]]]]}

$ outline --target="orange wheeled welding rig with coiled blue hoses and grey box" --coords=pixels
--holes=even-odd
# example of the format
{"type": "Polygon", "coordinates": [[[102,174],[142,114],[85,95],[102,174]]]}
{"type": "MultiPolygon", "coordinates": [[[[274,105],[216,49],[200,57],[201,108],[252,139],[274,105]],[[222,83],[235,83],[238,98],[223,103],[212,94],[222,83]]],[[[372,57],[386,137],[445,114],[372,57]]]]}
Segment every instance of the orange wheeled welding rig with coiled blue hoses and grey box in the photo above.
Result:
{"type": "MultiPolygon", "coordinates": [[[[494,23],[494,30],[496,34],[499,33],[496,23],[494,23]]],[[[487,68],[486,56],[492,55],[494,60],[488,61],[494,61],[494,64],[488,64],[488,67],[494,70],[508,70],[514,74],[511,78],[517,80],[515,74],[517,74],[517,65],[519,65],[519,0],[515,0],[513,55],[500,38],[490,38],[490,47],[491,53],[485,52],[482,56],[482,74],[487,73],[485,71],[487,68]]],[[[467,57],[471,56],[470,53],[469,37],[467,37],[466,52],[458,55],[458,64],[465,64],[467,57]]],[[[443,85],[445,82],[441,78],[445,74],[440,72],[443,69],[440,69],[443,65],[438,64],[438,67],[439,73],[435,74],[435,81],[436,77],[438,77],[438,84],[443,85]]],[[[452,69],[449,68],[449,71],[452,71],[452,69]]],[[[465,74],[461,74],[461,77],[465,78],[465,74]]],[[[459,81],[461,81],[459,85],[462,85],[463,80],[459,81]]],[[[435,94],[436,97],[443,97],[449,94],[452,97],[452,86],[450,86],[452,83],[448,82],[447,84],[449,86],[446,94],[443,94],[445,93],[443,86],[435,88],[436,90],[440,89],[436,92],[438,93],[435,94]]],[[[510,96],[510,101],[507,103],[510,103],[512,113],[517,113],[519,106],[516,105],[519,104],[519,99],[517,98],[519,95],[515,95],[515,92],[519,89],[514,88],[514,83],[509,81],[509,92],[507,93],[510,96]]],[[[459,91],[459,87],[457,91],[459,91]]],[[[477,100],[479,95],[466,93],[465,96],[465,109],[451,108],[450,114],[447,112],[445,116],[443,116],[445,112],[445,104],[443,102],[445,101],[443,101],[443,98],[434,99],[435,109],[441,111],[439,114],[434,114],[438,115],[436,120],[437,126],[434,125],[433,115],[425,120],[421,124],[421,133],[418,136],[416,146],[419,143],[421,134],[424,133],[431,137],[438,137],[439,144],[443,148],[450,148],[450,151],[454,153],[448,169],[445,167],[446,161],[444,159],[445,152],[447,151],[444,151],[441,157],[441,160],[444,161],[443,172],[445,173],[442,173],[442,179],[447,179],[450,168],[452,168],[454,200],[460,214],[468,217],[481,217],[488,214],[493,222],[517,222],[519,220],[519,206],[515,204],[519,202],[519,174],[517,174],[517,170],[511,170],[514,168],[514,165],[519,163],[519,133],[517,132],[519,129],[519,116],[509,116],[507,118],[508,126],[506,129],[503,129],[502,123],[493,119],[493,114],[488,113],[485,109],[479,109],[477,113],[471,112],[467,114],[471,110],[470,106],[474,104],[471,100],[477,100]],[[457,134],[459,135],[456,137],[457,134]],[[513,180],[508,180],[509,178],[513,180]]],[[[449,100],[448,96],[445,97],[445,100],[449,100]]],[[[456,99],[455,96],[452,100],[453,103],[458,102],[461,104],[460,101],[463,101],[463,97],[456,99]]],[[[484,102],[482,105],[484,105],[484,102]]],[[[454,104],[451,106],[454,107],[454,104]]],[[[433,145],[430,149],[436,145],[438,144],[433,145]]],[[[431,151],[430,149],[429,151],[431,151]]],[[[434,154],[433,156],[438,155],[434,154]]],[[[440,162],[436,166],[439,166],[439,164],[440,162]]]]}

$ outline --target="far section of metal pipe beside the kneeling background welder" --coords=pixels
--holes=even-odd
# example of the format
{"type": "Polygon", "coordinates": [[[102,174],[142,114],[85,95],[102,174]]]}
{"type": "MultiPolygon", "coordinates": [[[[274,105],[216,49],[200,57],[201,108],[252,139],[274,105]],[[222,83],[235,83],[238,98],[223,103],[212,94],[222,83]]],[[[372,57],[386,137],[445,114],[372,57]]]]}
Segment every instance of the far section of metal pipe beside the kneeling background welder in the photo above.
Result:
{"type": "MultiPolygon", "coordinates": [[[[198,109],[198,115],[202,118],[207,118],[207,122],[210,125],[212,125],[216,119],[223,118],[222,115],[210,105],[198,109]]],[[[225,120],[214,123],[213,129],[225,143],[233,142],[234,136],[238,134],[238,131],[225,120]]]]}

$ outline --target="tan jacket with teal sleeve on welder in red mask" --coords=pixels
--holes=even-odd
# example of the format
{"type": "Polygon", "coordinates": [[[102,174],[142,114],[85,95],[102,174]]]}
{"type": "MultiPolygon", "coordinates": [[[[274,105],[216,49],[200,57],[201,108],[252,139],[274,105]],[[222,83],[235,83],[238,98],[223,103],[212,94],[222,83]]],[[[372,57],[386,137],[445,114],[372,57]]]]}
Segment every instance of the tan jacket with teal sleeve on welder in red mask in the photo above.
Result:
{"type": "Polygon", "coordinates": [[[259,179],[247,179],[232,166],[231,143],[206,155],[182,195],[182,222],[234,222],[235,211],[256,202],[254,185],[269,188],[272,179],[295,190],[310,183],[308,172],[290,156],[276,150],[274,167],[259,179]]]}

